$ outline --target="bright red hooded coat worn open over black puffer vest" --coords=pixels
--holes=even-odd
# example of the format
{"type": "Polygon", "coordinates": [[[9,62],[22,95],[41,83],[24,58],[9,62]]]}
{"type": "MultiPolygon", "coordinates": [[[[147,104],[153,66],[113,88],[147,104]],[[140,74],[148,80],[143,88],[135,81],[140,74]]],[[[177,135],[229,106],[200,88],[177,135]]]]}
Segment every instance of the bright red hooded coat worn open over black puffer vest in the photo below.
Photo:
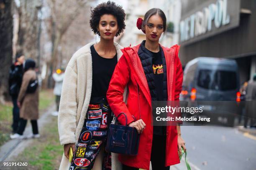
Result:
{"type": "MultiPolygon", "coordinates": [[[[141,119],[146,123],[146,128],[141,134],[138,155],[119,155],[119,160],[124,165],[149,170],[151,146],[153,138],[153,126],[151,125],[152,106],[151,95],[146,76],[138,57],[140,44],[135,47],[126,47],[122,50],[123,56],[115,67],[107,92],[108,103],[115,116],[124,112],[128,118],[128,124],[133,122],[132,115],[136,120],[141,119]],[[123,102],[123,92],[128,86],[127,104],[123,102]]],[[[170,48],[161,46],[164,50],[167,70],[168,101],[179,100],[182,89],[183,72],[178,53],[179,46],[170,48]]],[[[125,117],[120,115],[118,121],[125,125],[125,117]]],[[[161,155],[159,155],[161,156],[161,155]]],[[[166,127],[166,160],[165,165],[170,166],[179,163],[177,149],[177,127],[166,127]]]]}

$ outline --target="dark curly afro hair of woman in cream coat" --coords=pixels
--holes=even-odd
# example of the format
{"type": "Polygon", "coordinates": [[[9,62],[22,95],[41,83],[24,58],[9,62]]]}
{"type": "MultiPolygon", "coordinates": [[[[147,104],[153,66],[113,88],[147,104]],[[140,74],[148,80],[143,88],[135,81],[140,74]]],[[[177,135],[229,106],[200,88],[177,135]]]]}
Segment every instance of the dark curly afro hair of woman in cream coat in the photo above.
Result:
{"type": "Polygon", "coordinates": [[[100,23],[100,17],[104,14],[114,15],[118,23],[118,32],[115,36],[120,35],[121,32],[125,29],[125,11],[120,5],[116,5],[115,2],[103,2],[97,5],[93,10],[91,10],[91,19],[90,27],[95,34],[100,35],[100,32],[97,30],[97,27],[100,23]]]}

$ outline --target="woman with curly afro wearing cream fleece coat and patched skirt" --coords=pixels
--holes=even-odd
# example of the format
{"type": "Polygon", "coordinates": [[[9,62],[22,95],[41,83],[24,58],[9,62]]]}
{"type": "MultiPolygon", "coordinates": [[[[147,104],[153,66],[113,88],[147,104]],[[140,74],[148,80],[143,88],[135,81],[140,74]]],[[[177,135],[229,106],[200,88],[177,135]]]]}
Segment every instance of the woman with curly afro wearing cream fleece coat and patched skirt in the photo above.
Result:
{"type": "Polygon", "coordinates": [[[60,143],[64,145],[60,170],[115,169],[111,154],[105,150],[113,118],[106,93],[122,55],[123,47],[114,37],[125,29],[124,20],[123,8],[114,2],[97,5],[91,10],[90,27],[100,42],[80,48],[67,65],[58,116],[60,143]],[[69,156],[70,148],[73,157],[69,156]]]}

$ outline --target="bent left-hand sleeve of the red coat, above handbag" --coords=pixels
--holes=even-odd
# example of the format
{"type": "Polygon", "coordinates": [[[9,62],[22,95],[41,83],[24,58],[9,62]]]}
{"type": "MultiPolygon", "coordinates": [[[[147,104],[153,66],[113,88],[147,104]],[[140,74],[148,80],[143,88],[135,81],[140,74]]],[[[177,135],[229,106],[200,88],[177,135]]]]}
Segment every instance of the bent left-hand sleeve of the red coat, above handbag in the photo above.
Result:
{"type": "MultiPolygon", "coordinates": [[[[123,102],[123,92],[125,86],[130,80],[130,68],[128,67],[127,60],[123,55],[118,61],[115,70],[113,72],[112,78],[110,80],[110,84],[107,92],[107,100],[108,104],[111,107],[111,110],[117,117],[121,112],[125,113],[127,116],[127,124],[130,124],[134,121],[131,113],[129,112],[125,102],[123,102]]],[[[124,115],[120,115],[118,117],[118,121],[125,125],[125,117],[124,115]]]]}

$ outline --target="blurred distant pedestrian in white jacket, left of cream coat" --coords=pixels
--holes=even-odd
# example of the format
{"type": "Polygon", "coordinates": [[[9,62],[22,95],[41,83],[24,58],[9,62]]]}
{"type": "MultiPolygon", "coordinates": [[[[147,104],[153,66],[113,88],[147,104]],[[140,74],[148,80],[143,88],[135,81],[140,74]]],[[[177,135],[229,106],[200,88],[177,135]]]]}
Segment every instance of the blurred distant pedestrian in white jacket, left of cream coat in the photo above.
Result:
{"type": "Polygon", "coordinates": [[[54,95],[55,95],[55,101],[56,101],[56,111],[52,113],[52,115],[57,116],[59,112],[59,102],[61,97],[61,88],[62,88],[62,82],[64,79],[64,69],[57,69],[56,72],[52,75],[55,85],[54,85],[54,95]]]}

